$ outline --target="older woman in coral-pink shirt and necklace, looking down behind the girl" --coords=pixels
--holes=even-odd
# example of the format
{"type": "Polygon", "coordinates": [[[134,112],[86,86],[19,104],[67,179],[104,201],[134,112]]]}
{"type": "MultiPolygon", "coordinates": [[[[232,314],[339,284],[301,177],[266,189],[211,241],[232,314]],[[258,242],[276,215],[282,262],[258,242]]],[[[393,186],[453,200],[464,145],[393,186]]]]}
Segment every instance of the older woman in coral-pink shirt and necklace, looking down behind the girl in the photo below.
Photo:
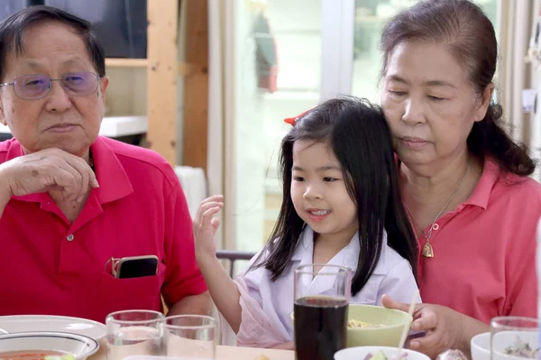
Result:
{"type": "MultiPolygon", "coordinates": [[[[419,246],[410,347],[469,351],[496,316],[536,317],[535,162],[502,128],[492,102],[496,36],[470,1],[428,0],[382,34],[381,106],[399,156],[419,246]]],[[[408,309],[390,298],[387,307],[408,309]]]]}

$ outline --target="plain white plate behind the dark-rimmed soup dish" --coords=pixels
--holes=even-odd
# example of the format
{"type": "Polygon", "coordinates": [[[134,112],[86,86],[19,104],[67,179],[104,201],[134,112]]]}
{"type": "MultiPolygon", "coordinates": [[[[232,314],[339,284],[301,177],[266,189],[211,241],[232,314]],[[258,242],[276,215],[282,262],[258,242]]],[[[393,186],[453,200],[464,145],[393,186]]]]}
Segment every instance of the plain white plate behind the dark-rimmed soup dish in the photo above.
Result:
{"type": "Polygon", "coordinates": [[[95,340],[105,337],[105,325],[86,318],[69,318],[50,315],[14,315],[0,317],[0,334],[28,331],[55,331],[78,334],[95,340]]]}

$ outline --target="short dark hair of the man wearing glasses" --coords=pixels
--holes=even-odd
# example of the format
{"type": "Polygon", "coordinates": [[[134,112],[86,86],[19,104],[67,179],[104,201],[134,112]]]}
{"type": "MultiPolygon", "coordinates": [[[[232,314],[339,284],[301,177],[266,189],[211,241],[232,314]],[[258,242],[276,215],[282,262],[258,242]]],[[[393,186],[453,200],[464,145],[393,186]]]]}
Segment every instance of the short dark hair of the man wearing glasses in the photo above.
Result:
{"type": "Polygon", "coordinates": [[[5,75],[5,59],[10,51],[23,52],[23,34],[34,23],[58,22],[73,28],[87,46],[97,75],[105,76],[105,52],[97,41],[92,24],[56,7],[36,5],[15,13],[0,23],[0,78],[5,75]]]}

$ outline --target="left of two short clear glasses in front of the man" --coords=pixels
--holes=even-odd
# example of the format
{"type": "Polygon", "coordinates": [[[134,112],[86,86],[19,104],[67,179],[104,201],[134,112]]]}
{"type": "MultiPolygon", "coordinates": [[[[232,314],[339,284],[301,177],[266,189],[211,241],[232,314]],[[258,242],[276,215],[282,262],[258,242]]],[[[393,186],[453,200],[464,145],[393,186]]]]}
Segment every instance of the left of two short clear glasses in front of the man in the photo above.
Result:
{"type": "Polygon", "coordinates": [[[124,310],[107,315],[107,360],[163,355],[164,318],[162,313],[151,310],[124,310]]]}

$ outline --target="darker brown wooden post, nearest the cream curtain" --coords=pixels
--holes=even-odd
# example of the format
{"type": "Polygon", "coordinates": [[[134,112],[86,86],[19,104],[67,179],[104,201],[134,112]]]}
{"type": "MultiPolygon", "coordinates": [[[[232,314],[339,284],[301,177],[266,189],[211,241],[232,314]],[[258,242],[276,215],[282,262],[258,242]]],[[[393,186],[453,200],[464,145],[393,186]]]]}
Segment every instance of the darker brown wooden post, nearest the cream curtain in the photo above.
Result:
{"type": "Polygon", "coordinates": [[[206,173],[208,127],[208,1],[183,0],[186,4],[185,62],[192,71],[185,78],[183,165],[206,173]]]}

